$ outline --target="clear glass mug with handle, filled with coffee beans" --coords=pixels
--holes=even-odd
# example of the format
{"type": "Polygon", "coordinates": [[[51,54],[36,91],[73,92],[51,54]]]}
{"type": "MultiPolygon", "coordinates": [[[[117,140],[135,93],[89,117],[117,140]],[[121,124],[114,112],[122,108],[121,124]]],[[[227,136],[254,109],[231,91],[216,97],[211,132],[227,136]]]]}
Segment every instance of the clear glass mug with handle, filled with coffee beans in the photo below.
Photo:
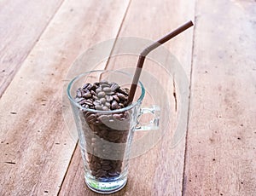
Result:
{"type": "Polygon", "coordinates": [[[82,107],[75,100],[77,89],[84,84],[108,81],[130,88],[132,76],[120,71],[91,71],[79,75],[68,84],[67,96],[79,132],[79,147],[84,161],[84,178],[87,186],[96,193],[114,193],[125,187],[134,131],[157,130],[159,107],[141,107],[145,89],[137,85],[134,101],[127,107],[115,110],[95,110],[82,107]],[[140,124],[144,113],[154,118],[140,124]]]}

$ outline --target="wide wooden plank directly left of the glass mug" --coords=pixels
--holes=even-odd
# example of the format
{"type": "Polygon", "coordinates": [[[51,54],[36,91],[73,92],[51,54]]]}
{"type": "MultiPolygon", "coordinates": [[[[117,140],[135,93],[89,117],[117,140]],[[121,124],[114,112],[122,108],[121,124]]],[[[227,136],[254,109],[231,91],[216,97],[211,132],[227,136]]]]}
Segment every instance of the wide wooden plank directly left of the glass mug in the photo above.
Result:
{"type": "Polygon", "coordinates": [[[61,114],[67,70],[90,44],[116,36],[126,6],[67,0],[51,20],[0,100],[1,195],[58,193],[76,145],[61,114]]]}

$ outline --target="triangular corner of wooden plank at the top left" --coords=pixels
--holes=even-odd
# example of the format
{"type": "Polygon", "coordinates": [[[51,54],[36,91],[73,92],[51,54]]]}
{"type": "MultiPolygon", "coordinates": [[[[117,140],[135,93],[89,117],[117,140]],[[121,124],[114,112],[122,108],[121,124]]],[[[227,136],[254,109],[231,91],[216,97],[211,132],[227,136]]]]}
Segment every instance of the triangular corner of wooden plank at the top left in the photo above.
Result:
{"type": "Polygon", "coordinates": [[[63,0],[0,3],[0,97],[63,0]]]}

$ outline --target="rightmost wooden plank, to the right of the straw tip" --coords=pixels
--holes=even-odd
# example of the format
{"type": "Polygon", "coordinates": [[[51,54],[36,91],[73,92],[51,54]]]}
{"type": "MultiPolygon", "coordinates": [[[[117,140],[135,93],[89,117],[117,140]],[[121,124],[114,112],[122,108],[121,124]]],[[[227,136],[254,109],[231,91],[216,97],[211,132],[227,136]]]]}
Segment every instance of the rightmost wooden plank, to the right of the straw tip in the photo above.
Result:
{"type": "Polygon", "coordinates": [[[184,195],[256,193],[255,9],[197,1],[184,195]]]}

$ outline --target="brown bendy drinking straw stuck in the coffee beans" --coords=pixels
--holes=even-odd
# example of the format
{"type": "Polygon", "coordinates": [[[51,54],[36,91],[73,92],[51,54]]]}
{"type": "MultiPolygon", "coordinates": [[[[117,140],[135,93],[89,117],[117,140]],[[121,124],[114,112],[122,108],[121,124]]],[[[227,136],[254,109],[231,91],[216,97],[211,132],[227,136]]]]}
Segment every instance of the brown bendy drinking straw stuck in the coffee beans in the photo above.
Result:
{"type": "Polygon", "coordinates": [[[153,49],[156,49],[161,44],[166,43],[168,40],[172,39],[172,37],[177,36],[179,33],[187,30],[191,26],[193,26],[193,22],[189,21],[189,22],[185,23],[183,26],[178,27],[173,32],[170,32],[165,37],[160,38],[160,40],[158,40],[157,42],[149,45],[148,48],[143,50],[143,52],[139,55],[139,59],[137,61],[137,69],[136,69],[136,72],[134,73],[134,76],[133,76],[133,79],[132,79],[130,94],[129,94],[129,97],[128,97],[128,103],[131,103],[133,101],[135,91],[137,89],[137,83],[138,83],[138,80],[140,78],[140,75],[141,75],[141,72],[142,72],[142,69],[143,69],[143,63],[145,61],[146,55],[148,55],[148,53],[150,53],[153,49]]]}

